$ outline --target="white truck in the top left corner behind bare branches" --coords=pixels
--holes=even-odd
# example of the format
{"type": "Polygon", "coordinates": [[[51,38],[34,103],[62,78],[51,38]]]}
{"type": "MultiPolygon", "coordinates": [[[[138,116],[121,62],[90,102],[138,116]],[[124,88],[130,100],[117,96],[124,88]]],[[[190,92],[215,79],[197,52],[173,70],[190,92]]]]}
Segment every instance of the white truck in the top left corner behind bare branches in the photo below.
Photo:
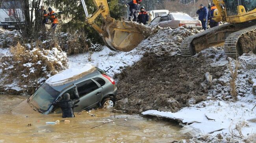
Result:
{"type": "MultiPolygon", "coordinates": [[[[0,26],[4,29],[17,29],[20,24],[24,24],[22,1],[23,0],[2,0],[0,26]]],[[[33,0],[29,0],[30,9],[32,7],[32,1],[33,0]]]]}

